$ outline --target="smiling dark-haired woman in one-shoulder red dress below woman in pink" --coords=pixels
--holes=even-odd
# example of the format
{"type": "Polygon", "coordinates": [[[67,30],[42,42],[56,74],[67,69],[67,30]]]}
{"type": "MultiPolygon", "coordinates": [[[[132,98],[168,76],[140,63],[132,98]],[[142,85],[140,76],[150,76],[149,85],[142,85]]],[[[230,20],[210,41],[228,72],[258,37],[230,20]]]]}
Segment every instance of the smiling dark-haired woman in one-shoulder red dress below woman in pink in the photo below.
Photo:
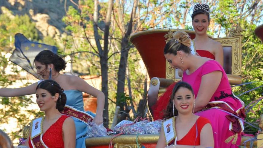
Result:
{"type": "Polygon", "coordinates": [[[176,83],[165,112],[165,118],[172,119],[172,122],[165,124],[169,119],[163,122],[157,148],[166,145],[171,148],[214,147],[210,121],[193,114],[194,107],[195,95],[192,87],[185,82],[176,83]],[[175,129],[174,133],[172,128],[175,129]],[[171,135],[175,136],[169,138],[171,135]]]}

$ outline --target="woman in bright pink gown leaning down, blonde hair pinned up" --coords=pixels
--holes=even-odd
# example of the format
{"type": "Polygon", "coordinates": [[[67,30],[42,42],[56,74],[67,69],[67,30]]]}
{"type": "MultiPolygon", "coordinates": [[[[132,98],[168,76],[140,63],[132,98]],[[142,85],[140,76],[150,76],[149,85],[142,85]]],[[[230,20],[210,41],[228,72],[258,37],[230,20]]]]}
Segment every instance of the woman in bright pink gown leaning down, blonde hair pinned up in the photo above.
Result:
{"type": "Polygon", "coordinates": [[[244,127],[230,113],[244,118],[244,102],[232,94],[227,75],[217,61],[190,54],[187,33],[177,31],[173,37],[166,43],[164,56],[171,67],[184,71],[182,81],[192,86],[196,98],[194,112],[210,120],[215,148],[237,148],[244,127]]]}

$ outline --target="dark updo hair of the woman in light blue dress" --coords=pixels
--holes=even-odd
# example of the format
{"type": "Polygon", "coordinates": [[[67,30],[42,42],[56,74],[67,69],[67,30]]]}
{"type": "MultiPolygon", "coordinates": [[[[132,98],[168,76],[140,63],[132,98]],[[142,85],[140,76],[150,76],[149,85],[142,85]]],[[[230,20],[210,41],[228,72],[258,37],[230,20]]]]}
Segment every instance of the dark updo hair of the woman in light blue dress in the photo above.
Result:
{"type": "Polygon", "coordinates": [[[43,50],[36,55],[34,62],[40,62],[43,65],[53,64],[57,72],[66,68],[66,62],[62,57],[59,57],[57,54],[54,54],[50,50],[43,50]]]}

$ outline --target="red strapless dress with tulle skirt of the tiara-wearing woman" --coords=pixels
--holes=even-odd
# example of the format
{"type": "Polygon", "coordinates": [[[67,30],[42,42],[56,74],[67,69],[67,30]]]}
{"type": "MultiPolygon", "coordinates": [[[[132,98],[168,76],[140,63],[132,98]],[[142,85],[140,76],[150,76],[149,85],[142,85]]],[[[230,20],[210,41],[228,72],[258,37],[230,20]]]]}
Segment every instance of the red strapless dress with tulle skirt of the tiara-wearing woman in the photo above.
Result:
{"type": "MultiPolygon", "coordinates": [[[[196,52],[201,56],[201,57],[207,57],[210,59],[215,59],[215,56],[206,50],[196,50],[196,52]]],[[[172,90],[174,88],[176,83],[173,83],[169,87],[167,87],[166,91],[159,97],[157,103],[152,106],[153,110],[153,119],[158,120],[158,119],[163,119],[163,114],[166,110],[166,106],[168,105],[168,102],[170,100],[170,95],[172,94],[172,90]]]]}

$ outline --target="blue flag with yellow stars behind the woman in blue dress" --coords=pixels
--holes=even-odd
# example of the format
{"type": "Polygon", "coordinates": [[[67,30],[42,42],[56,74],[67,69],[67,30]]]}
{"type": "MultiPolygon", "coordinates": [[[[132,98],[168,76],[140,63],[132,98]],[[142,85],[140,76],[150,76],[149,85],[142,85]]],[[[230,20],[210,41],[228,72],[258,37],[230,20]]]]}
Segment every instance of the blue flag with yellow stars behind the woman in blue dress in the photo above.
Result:
{"type": "Polygon", "coordinates": [[[31,42],[21,33],[15,35],[15,47],[16,49],[13,51],[9,60],[38,79],[40,78],[34,69],[34,59],[36,55],[43,50],[50,50],[57,54],[57,48],[55,46],[31,42]]]}

